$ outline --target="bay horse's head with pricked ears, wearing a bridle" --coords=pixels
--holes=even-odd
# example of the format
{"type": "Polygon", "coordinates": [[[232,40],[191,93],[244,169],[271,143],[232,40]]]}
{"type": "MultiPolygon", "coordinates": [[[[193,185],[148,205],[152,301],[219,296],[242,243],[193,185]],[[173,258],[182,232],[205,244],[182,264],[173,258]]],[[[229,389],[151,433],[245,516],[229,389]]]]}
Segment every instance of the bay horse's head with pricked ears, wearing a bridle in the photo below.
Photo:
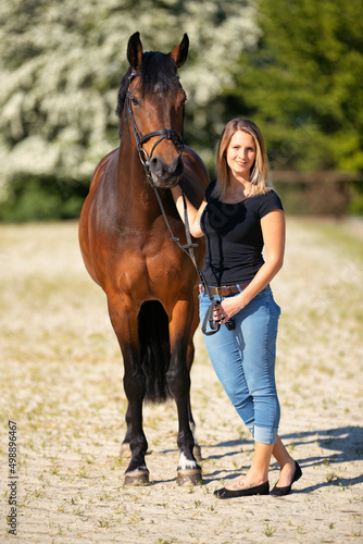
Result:
{"type": "Polygon", "coordinates": [[[158,188],[177,185],[184,173],[183,122],[186,94],[177,76],[188,55],[189,39],[168,54],[142,52],[139,33],[128,41],[127,59],[130,67],[124,79],[124,102],[118,92],[117,113],[128,120],[140,160],[158,188]],[[127,85],[127,88],[126,88],[127,85]],[[127,119],[128,118],[128,119],[127,119]]]}

